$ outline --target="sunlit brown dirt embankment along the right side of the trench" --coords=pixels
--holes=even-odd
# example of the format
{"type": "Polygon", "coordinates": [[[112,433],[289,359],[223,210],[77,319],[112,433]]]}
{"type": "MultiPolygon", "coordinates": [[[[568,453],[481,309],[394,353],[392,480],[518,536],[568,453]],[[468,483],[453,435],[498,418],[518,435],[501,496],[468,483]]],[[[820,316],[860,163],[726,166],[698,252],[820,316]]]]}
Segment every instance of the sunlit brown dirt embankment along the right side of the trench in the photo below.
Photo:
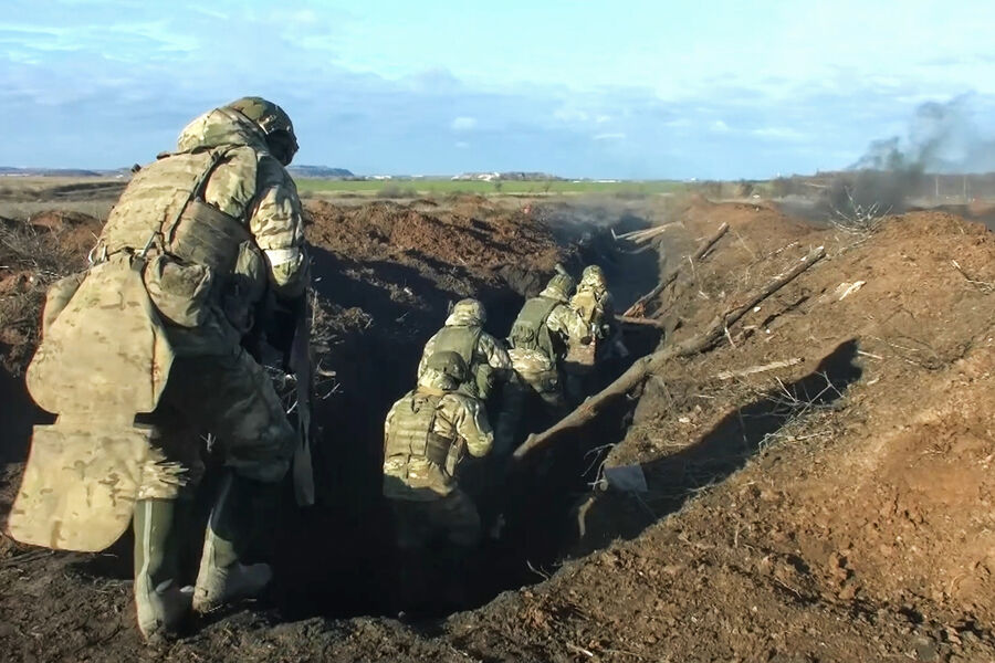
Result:
{"type": "Polygon", "coordinates": [[[989,660],[995,239],[946,213],[874,235],[765,206],[682,217],[690,238],[731,231],[662,295],[677,339],[809,246],[829,257],[647,382],[608,464],[648,491],[586,505],[578,549],[607,549],[468,617],[467,651],[516,614],[526,657],[989,660]]]}

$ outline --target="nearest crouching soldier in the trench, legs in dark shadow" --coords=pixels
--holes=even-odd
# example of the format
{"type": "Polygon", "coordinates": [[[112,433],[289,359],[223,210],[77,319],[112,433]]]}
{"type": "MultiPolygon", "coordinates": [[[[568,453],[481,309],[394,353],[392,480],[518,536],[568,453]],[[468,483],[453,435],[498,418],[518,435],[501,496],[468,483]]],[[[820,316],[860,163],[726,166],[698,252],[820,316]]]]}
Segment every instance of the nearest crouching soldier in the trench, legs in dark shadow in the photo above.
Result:
{"type": "Polygon", "coordinates": [[[480,543],[480,514],[459,485],[459,470],[465,454],[490,453],[493,434],[481,402],[457,391],[467,377],[457,352],[433,354],[418,386],[394,403],[384,423],[384,496],[394,514],[401,594],[409,607],[427,598],[422,587],[451,598],[468,554],[480,543]]]}

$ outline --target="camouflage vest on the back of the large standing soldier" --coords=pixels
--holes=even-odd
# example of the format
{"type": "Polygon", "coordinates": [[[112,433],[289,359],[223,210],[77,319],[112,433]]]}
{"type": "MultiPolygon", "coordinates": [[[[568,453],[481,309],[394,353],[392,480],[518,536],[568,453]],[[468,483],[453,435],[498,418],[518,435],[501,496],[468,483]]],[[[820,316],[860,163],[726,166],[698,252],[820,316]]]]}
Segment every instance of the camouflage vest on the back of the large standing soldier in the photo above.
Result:
{"type": "Polygon", "coordinates": [[[148,246],[218,273],[230,272],[239,246],[251,235],[240,219],[205,202],[203,192],[211,173],[234,149],[167,155],[139,170],[112,210],[97,251],[140,252],[148,246]]]}

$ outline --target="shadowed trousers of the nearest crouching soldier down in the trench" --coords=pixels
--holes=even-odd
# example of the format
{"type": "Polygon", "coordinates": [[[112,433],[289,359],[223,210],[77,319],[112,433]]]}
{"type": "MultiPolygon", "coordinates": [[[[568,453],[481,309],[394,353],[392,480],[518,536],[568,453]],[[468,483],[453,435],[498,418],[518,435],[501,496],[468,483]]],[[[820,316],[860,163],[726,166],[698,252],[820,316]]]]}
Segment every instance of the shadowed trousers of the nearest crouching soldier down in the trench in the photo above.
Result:
{"type": "Polygon", "coordinates": [[[388,499],[394,513],[397,546],[401,550],[427,548],[433,540],[459,548],[472,548],[480,541],[480,514],[473,501],[460,488],[438,499],[388,499]]]}

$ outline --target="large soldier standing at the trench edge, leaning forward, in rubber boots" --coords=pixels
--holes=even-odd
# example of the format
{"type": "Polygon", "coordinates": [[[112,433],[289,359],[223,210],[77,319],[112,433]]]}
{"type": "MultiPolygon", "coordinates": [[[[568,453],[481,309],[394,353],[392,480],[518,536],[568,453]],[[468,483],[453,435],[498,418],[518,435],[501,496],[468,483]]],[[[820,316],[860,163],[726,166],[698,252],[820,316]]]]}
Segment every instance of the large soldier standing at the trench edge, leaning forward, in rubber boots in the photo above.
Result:
{"type": "MultiPolygon", "coordinates": [[[[85,414],[90,423],[73,431],[85,440],[87,427],[106,428],[113,420],[119,430],[93,454],[108,459],[121,449],[112,449],[114,435],[121,438],[116,442],[135,435],[146,442],[133,453],[140,459],[133,467],[139,477],[133,496],[134,591],[146,639],[175,631],[191,607],[203,612],[259,594],[272,576],[269,565],[247,566],[240,556],[253,535],[272,527],[261,512],[271,507],[289,470],[295,431],[269,378],[240,344],[264,298],[283,311],[303,305],[301,202],[285,169],[296,150],[290,117],[260,97],[196,118],[176,151],[135,173],[92,253],[94,264],[78,290],[62,297],[59,306],[65,308],[46,305],[29,388],[40,404],[60,413],[50,428],[81,422],[85,414]],[[145,348],[157,354],[140,354],[145,348]],[[114,366],[121,367],[117,376],[114,366]],[[66,375],[87,376],[73,385],[75,400],[57,393],[66,375]],[[149,385],[151,396],[145,398],[149,385]],[[109,397],[101,402],[104,393],[109,397]],[[203,473],[206,432],[229,471],[191,591],[177,577],[177,558],[185,507],[203,473]]],[[[46,443],[44,432],[35,429],[33,454],[46,443]]],[[[19,499],[28,480],[25,474],[19,499]]],[[[121,494],[116,503],[132,504],[128,497],[121,494]]],[[[90,519],[100,522],[94,514],[90,519]]]]}

